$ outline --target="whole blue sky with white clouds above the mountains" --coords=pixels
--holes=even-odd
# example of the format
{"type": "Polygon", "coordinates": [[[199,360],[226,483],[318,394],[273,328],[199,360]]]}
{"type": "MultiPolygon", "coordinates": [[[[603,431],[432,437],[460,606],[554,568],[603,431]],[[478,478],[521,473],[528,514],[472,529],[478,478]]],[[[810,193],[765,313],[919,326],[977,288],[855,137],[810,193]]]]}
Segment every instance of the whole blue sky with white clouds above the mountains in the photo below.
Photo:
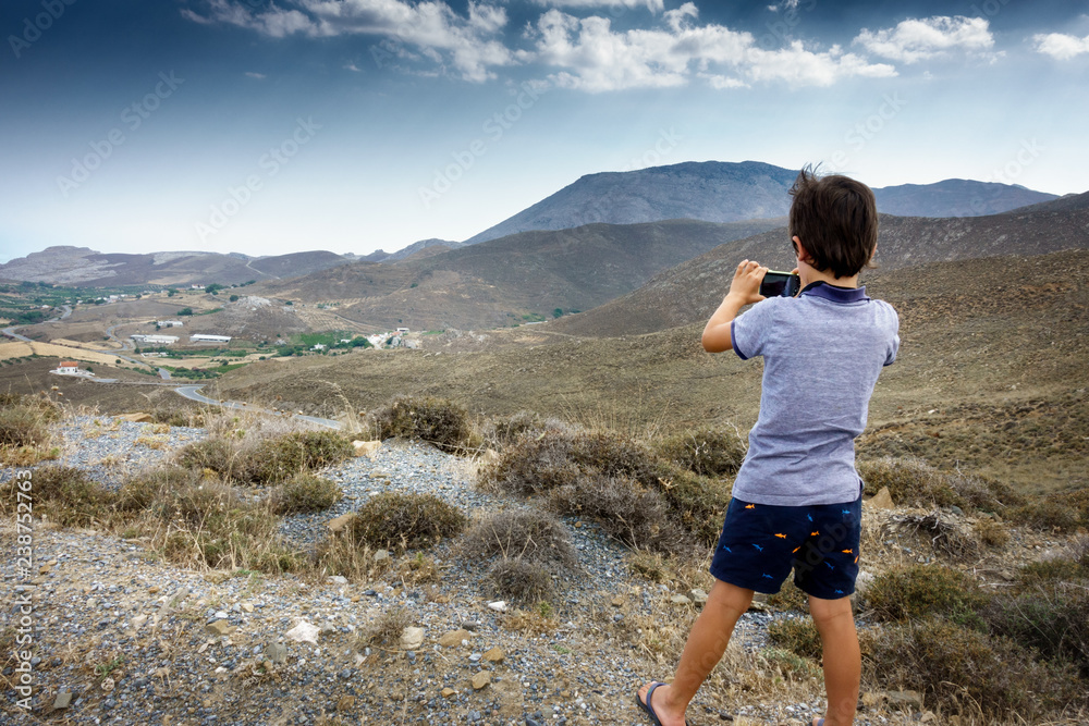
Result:
{"type": "Polygon", "coordinates": [[[1089,0],[5,0],[0,261],[365,255],[584,174],[1089,189],[1089,0]]]}

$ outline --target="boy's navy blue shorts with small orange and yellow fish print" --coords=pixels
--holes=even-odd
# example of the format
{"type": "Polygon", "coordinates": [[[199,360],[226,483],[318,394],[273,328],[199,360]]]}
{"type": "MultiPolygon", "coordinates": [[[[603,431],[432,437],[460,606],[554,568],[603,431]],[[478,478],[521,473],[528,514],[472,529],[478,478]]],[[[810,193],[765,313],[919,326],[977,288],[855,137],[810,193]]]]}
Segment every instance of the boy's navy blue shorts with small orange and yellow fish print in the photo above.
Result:
{"type": "Polygon", "coordinates": [[[711,575],[757,592],[779,592],[794,570],[803,592],[837,600],[855,591],[862,496],[845,504],[772,506],[734,499],[711,575]]]}

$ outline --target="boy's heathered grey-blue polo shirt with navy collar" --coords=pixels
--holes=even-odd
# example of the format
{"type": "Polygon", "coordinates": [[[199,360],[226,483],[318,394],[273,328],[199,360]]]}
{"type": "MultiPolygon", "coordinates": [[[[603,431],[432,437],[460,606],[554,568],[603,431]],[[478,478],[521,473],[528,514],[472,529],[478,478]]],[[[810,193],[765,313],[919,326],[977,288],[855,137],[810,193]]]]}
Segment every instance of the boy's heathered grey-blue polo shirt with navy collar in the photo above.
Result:
{"type": "Polygon", "coordinates": [[[854,502],[855,438],[866,428],[883,366],[896,359],[900,319],[866,288],[807,285],[761,300],[731,323],[743,360],[763,356],[760,418],[733,495],[778,506],[854,502]]]}

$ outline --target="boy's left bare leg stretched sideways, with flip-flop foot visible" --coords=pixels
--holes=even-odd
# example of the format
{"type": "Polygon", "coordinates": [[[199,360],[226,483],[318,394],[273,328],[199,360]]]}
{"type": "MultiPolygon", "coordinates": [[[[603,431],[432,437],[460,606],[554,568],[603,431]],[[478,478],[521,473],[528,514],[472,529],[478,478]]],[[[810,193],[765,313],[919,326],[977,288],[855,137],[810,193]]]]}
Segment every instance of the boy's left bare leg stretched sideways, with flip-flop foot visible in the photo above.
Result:
{"type": "MultiPolygon", "coordinates": [[[[711,592],[707,595],[703,612],[696,618],[692,632],[688,633],[688,641],[681,654],[681,663],[677,664],[673,684],[659,686],[654,690],[651,705],[662,726],[684,725],[684,712],[688,707],[688,702],[722,660],[734,626],[751,602],[751,590],[714,580],[711,592]]],[[[647,701],[649,689],[650,684],[639,689],[639,700],[644,703],[647,701]]]]}

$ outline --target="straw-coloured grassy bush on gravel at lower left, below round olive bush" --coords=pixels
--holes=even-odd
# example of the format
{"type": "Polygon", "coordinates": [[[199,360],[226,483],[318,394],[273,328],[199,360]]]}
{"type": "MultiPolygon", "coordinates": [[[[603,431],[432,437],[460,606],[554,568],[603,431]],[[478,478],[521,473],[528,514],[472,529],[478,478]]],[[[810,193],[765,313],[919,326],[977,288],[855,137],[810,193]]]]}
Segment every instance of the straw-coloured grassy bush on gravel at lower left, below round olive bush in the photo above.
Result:
{"type": "Polygon", "coordinates": [[[134,477],[119,492],[117,512],[117,528],[149,537],[170,562],[273,574],[306,565],[266,502],[196,471],[171,467],[134,477]]]}

